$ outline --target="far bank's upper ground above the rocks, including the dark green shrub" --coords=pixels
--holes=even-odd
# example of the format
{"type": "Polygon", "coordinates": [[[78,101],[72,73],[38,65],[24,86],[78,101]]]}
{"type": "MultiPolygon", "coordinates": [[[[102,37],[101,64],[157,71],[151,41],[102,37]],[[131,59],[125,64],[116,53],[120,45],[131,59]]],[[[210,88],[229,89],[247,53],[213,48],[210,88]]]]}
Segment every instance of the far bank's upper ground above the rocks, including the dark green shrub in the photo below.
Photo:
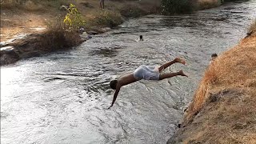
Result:
{"type": "Polygon", "coordinates": [[[60,6],[70,3],[82,14],[86,30],[118,26],[124,18],[146,14],[177,14],[218,6],[218,0],[110,0],[102,10],[96,0],[1,0],[1,41],[15,34],[38,32],[34,28],[64,18],[66,11],[60,6]]]}

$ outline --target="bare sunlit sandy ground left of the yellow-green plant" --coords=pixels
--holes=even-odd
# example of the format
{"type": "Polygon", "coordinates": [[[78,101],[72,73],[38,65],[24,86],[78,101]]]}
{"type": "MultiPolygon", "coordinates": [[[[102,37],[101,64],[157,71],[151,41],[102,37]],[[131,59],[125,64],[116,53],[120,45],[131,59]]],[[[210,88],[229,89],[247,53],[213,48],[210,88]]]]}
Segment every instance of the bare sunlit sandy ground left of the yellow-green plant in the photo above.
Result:
{"type": "Polygon", "coordinates": [[[24,10],[1,10],[1,42],[17,34],[31,34],[46,30],[51,14],[28,13],[24,10]]]}

